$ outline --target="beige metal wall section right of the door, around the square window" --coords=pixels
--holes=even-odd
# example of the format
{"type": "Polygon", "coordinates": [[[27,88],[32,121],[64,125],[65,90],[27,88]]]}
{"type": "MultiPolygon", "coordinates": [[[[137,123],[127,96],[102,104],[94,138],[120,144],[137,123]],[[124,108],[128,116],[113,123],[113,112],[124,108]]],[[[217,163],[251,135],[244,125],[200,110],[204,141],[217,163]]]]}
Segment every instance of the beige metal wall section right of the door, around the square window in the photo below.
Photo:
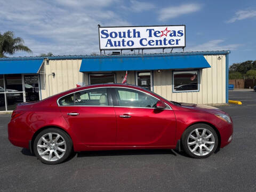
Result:
{"type": "Polygon", "coordinates": [[[172,92],[172,70],[154,71],[154,92],[162,97],[177,101],[199,104],[226,102],[226,56],[205,55],[211,68],[199,70],[199,91],[172,92]],[[218,59],[219,58],[219,59],[218,59]]]}

